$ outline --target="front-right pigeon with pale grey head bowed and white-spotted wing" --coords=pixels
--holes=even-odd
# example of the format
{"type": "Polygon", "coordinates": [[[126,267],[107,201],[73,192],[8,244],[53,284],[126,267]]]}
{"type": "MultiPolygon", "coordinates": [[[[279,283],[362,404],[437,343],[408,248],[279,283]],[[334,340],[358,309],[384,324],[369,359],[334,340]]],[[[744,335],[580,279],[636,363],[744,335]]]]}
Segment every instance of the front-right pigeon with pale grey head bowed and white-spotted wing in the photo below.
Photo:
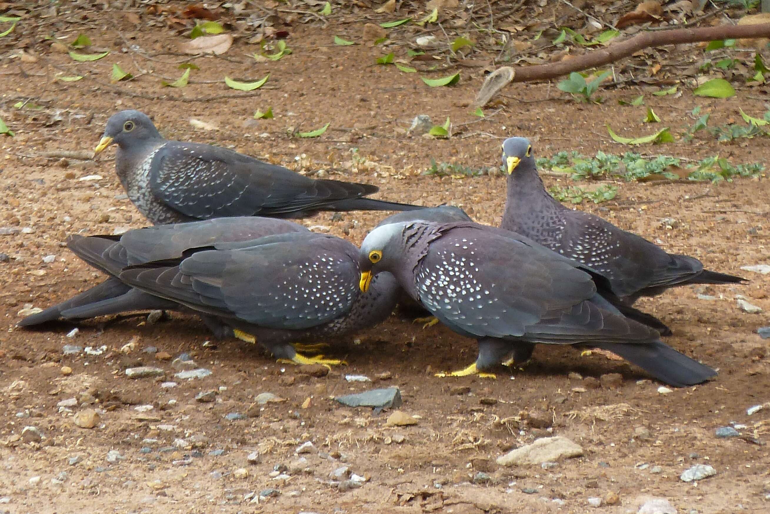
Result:
{"type": "Polygon", "coordinates": [[[398,283],[444,325],[475,337],[470,375],[522,361],[534,343],[609,350],[671,386],[716,375],[665,345],[654,329],[624,316],[617,297],[591,269],[504,229],[476,223],[383,225],[361,245],[360,289],[379,272],[398,283]]]}

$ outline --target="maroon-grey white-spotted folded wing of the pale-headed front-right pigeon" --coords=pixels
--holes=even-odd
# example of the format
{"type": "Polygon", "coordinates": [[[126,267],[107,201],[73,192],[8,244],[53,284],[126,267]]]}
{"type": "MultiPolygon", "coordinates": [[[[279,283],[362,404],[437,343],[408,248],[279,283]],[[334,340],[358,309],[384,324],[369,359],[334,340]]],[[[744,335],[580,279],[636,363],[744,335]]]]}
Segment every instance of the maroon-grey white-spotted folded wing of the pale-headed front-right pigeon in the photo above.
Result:
{"type": "Polygon", "coordinates": [[[591,275],[574,263],[507,234],[454,229],[431,243],[417,269],[423,305],[465,333],[506,337],[595,294],[591,275]]]}

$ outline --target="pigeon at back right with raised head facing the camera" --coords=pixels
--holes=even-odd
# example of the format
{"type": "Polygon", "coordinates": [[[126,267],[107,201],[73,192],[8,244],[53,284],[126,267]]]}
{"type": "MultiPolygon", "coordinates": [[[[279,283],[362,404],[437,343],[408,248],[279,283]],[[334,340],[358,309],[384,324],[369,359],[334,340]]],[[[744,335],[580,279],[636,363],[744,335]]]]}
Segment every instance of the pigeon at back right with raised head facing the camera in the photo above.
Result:
{"type": "Polygon", "coordinates": [[[694,257],[665,252],[598,216],[567,209],[545,190],[527,139],[503,142],[503,164],[509,176],[500,227],[606,276],[614,294],[629,305],[640,296],[659,295],[677,285],[745,282],[738,276],[703,269],[694,257]]]}

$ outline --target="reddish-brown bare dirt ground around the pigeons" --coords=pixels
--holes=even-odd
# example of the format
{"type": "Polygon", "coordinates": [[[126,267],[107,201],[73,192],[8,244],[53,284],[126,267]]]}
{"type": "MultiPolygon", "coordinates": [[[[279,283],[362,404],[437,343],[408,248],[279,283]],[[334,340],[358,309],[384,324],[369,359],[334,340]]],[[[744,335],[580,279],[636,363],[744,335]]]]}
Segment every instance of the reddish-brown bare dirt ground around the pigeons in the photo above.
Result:
{"type": "MultiPolygon", "coordinates": [[[[374,14],[363,3],[334,4],[333,14],[323,19],[290,12],[318,12],[321,3],[283,5],[289,12],[274,14],[290,22],[278,29],[290,32],[286,42],[293,53],[256,62],[250,55],[259,45],[248,39],[259,31],[225,7],[220,21],[232,22],[231,29],[242,37],[219,57],[190,59],[163,53],[169,48],[176,52],[186,40],[184,24],[192,27],[179,12],[148,11],[144,4],[152,2],[109,2],[109,11],[106,2],[68,3],[56,12],[48,7],[29,12],[12,34],[0,39],[0,117],[15,131],[13,138],[0,136],[0,251],[9,256],[0,262],[0,512],[637,512],[647,496],[668,498],[680,513],[768,512],[770,409],[751,416],[746,409],[770,401],[768,341],[755,333],[770,325],[770,275],[740,269],[770,264],[766,175],[716,184],[618,182],[615,199],[578,206],[670,252],[694,255],[709,269],[751,279],[735,287],[683,287],[639,303],[671,325],[675,335],[668,344],[719,370],[712,382],[667,395],[658,394],[660,384],[644,380],[639,369],[624,362],[542,346],[530,365],[500,371],[497,380],[438,379],[434,372],[470,363],[475,342],[438,326],[423,330],[399,315],[357,338],[333,341],[331,353],[349,365],[320,378],[276,364],[244,342],[204,346],[209,333],[186,315],[155,324],[146,316],[84,322],[72,338],[67,337],[72,324],[15,329],[26,304],[46,307],[101,280],[63,247],[67,235],[109,234],[146,224],[123,196],[111,151],[96,161],[43,156],[59,150],[90,152],[109,115],[124,108],[152,115],[169,139],[224,145],[311,174],[323,169],[332,178],[379,185],[379,198],[447,202],[479,222],[497,225],[504,205],[502,176],[420,175],[430,159],[495,166],[500,139],[511,135],[531,138],[541,156],[561,150],[620,154],[629,147],[611,141],[606,123],[626,135],[652,129],[641,124],[644,107],[621,106],[618,99],[644,94],[665,126],[681,134],[692,124],[688,114],[696,105],[717,124],[740,121],[738,107],[754,115],[764,112],[764,88],[742,86],[740,79],[732,98],[698,98],[691,94],[689,78],[669,66],[660,72],[659,84],[668,87],[681,79],[681,96],[652,96],[648,93],[658,91],[658,85],[629,82],[602,91],[602,104],[580,104],[558,91],[555,82],[516,85],[505,89],[482,119],[470,114],[468,102],[499,48],[476,50],[460,66],[436,60],[436,72],[420,75],[437,78],[460,71],[461,80],[454,87],[428,88],[420,75],[373,63],[390,51],[405,56],[415,35],[432,34],[443,41],[443,28],[407,25],[411,28],[404,28],[400,38],[391,36],[392,46],[385,49],[332,43],[334,35],[365,42],[367,22],[424,15],[414,14],[413,8],[388,15],[374,14]],[[93,45],[78,52],[109,50],[110,55],[73,62],[62,46],[81,32],[93,45]],[[200,69],[192,72],[186,88],[161,87],[161,77],[179,78],[177,65],[190,60],[200,69]],[[114,63],[136,78],[111,85],[114,63]],[[84,78],[55,81],[60,72],[84,78]],[[267,72],[266,85],[247,96],[222,82],[224,75],[253,81],[267,72]],[[203,101],[211,96],[221,98],[203,101]],[[13,107],[27,100],[42,108],[13,107]],[[253,121],[256,109],[268,106],[275,118],[253,121]],[[438,123],[450,117],[454,136],[407,135],[417,114],[438,123]],[[216,130],[193,127],[191,118],[216,130]],[[330,128],[316,139],[287,135],[327,122],[330,128]],[[89,175],[101,178],[83,180],[89,175]],[[676,222],[667,228],[663,219],[676,222]],[[44,262],[47,255],[55,259],[44,262]],[[698,299],[699,293],[717,299],[698,299]],[[736,304],[738,294],[764,312],[743,312],[736,304]],[[133,344],[123,349],[127,343],[133,344]],[[105,349],[99,355],[65,355],[65,345],[105,349]],[[156,353],[147,352],[150,347],[156,353]],[[212,374],[175,379],[179,369],[169,357],[182,352],[212,374]],[[136,365],[158,366],[166,375],[127,378],[124,370],[136,365]],[[595,387],[601,375],[614,372],[623,376],[619,386],[595,387]],[[374,382],[346,382],[347,374],[367,375],[374,382]],[[168,381],[177,386],[163,388],[161,383],[168,381]],[[386,426],[387,411],[376,415],[330,399],[387,386],[400,387],[401,409],[418,416],[416,425],[386,426]],[[210,390],[216,390],[216,401],[196,401],[199,392],[210,390]],[[262,392],[283,401],[253,406],[262,392]],[[73,416],[86,409],[100,414],[92,429],[75,424],[73,416]],[[243,419],[226,418],[233,412],[243,419]],[[715,429],[730,423],[738,424],[742,437],[716,438],[715,429]],[[32,433],[22,437],[25,426],[35,426],[42,439],[32,433]],[[509,449],[551,435],[577,442],[584,456],[550,469],[495,463],[509,449]],[[307,441],[315,451],[296,455],[307,441]],[[108,460],[112,450],[120,457],[113,453],[108,460]],[[247,460],[254,451],[259,452],[256,463],[247,460]],[[698,463],[713,466],[716,476],[682,482],[681,472],[698,463]],[[367,481],[357,488],[340,487],[330,472],[342,466],[367,481]],[[602,506],[591,506],[592,497],[601,498],[602,506]]],[[[161,6],[176,3],[182,4],[161,6]]],[[[515,15],[510,5],[493,3],[494,22],[500,25],[524,26],[538,18],[551,28],[579,28],[585,19],[570,11],[557,21],[551,4],[558,2],[524,2],[527,11],[515,15]]],[[[275,7],[266,4],[254,16],[275,7]]],[[[480,8],[465,18],[465,25],[447,22],[448,38],[478,26],[472,22],[488,25],[488,9],[480,8]]],[[[559,4],[558,9],[567,8],[559,4]]],[[[398,34],[399,29],[389,30],[398,34]]],[[[532,39],[534,33],[522,37],[532,39]]],[[[693,46],[669,52],[666,59],[675,54],[692,62],[703,58],[693,46]]],[[[753,54],[738,52],[737,57],[750,62],[753,54]]],[[[624,66],[616,72],[639,73],[624,66]]],[[[736,164],[767,162],[766,141],[758,136],[725,144],[703,135],[691,144],[638,150],[688,159],[718,154],[736,164]]],[[[545,182],[553,185],[557,179],[548,176],[545,182]]],[[[360,243],[380,217],[349,212],[333,219],[323,213],[303,222],[326,225],[331,233],[360,243]]]]}

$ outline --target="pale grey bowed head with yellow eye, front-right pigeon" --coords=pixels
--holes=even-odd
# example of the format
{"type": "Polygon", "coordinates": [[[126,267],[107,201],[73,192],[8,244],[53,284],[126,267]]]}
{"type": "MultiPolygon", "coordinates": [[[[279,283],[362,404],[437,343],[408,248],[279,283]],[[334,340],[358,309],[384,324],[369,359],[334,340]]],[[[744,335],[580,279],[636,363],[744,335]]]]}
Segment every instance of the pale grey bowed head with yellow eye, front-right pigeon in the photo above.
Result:
{"type": "Polygon", "coordinates": [[[381,225],[363,239],[358,256],[361,291],[367,292],[372,277],[377,273],[397,269],[404,251],[402,234],[406,225],[410,225],[410,222],[381,225]]]}

